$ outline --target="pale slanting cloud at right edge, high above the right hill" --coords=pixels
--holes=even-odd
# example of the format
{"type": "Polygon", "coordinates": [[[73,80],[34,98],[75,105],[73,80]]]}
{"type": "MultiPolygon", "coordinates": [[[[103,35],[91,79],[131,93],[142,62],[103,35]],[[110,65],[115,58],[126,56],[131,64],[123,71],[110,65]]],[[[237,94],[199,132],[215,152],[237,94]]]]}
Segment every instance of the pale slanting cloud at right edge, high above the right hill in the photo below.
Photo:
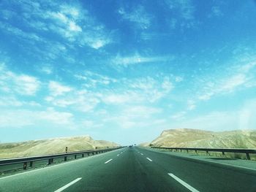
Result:
{"type": "Polygon", "coordinates": [[[255,58],[245,61],[241,58],[233,62],[234,64],[230,64],[229,69],[222,73],[208,75],[205,79],[200,77],[195,99],[209,100],[213,96],[227,95],[256,86],[255,58]]]}

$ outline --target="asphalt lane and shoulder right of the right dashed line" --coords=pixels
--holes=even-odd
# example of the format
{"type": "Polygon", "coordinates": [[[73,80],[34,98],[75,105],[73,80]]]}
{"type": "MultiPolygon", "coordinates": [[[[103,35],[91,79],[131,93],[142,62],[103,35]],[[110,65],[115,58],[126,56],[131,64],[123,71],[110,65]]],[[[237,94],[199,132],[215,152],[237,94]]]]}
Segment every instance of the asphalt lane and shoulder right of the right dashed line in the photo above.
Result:
{"type": "Polygon", "coordinates": [[[222,164],[194,161],[165,153],[139,148],[140,153],[154,158],[152,163],[185,180],[198,191],[256,191],[256,172],[222,164]]]}

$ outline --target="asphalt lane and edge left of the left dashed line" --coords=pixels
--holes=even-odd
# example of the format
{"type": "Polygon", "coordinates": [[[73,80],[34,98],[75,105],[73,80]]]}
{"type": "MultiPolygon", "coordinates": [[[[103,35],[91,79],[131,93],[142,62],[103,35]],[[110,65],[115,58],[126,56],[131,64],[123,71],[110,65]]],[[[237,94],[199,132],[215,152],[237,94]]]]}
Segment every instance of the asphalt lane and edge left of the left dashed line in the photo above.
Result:
{"type": "Polygon", "coordinates": [[[0,191],[56,191],[85,173],[90,175],[97,172],[101,166],[105,166],[105,161],[113,155],[116,156],[120,151],[121,149],[114,150],[23,174],[2,177],[0,178],[0,191]]]}

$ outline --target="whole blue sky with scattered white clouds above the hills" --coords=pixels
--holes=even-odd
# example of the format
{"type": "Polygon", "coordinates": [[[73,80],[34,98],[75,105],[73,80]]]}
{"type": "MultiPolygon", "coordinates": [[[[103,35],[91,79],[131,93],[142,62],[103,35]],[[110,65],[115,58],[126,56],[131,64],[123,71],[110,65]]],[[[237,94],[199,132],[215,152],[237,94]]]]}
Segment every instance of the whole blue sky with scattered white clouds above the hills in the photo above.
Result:
{"type": "Polygon", "coordinates": [[[0,142],[256,128],[255,1],[0,2],[0,142]]]}

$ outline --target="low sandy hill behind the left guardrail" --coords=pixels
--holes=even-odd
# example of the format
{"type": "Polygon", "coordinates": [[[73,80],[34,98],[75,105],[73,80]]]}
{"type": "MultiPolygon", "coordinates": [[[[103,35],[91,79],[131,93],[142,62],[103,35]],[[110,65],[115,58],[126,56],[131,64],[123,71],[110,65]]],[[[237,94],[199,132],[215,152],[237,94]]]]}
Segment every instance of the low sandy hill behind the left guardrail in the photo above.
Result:
{"type": "Polygon", "coordinates": [[[28,142],[0,143],[0,158],[46,155],[68,151],[93,150],[119,146],[114,142],[94,140],[89,136],[60,137],[53,139],[32,140],[28,142]]]}

